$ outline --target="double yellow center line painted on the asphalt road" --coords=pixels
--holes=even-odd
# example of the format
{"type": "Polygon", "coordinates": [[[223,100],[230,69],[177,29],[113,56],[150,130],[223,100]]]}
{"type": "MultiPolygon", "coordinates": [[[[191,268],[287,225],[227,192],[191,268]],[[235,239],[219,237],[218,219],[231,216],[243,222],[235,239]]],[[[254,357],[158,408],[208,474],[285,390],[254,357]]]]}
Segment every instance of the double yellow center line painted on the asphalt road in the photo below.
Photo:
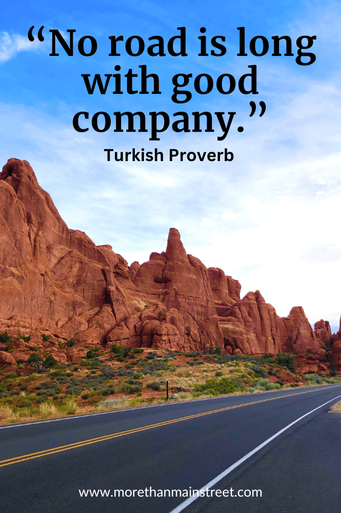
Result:
{"type": "MultiPolygon", "coordinates": [[[[322,389],[319,388],[318,390],[326,390],[327,388],[330,389],[333,387],[325,387],[322,389]]],[[[300,394],[310,393],[310,392],[316,392],[316,390],[307,390],[305,392],[290,393],[285,396],[271,397],[269,399],[253,401],[252,403],[237,404],[235,406],[228,406],[226,408],[219,408],[216,410],[204,411],[203,413],[195,413],[195,415],[189,415],[187,417],[181,417],[179,419],[167,420],[165,422],[158,422],[157,424],[150,424],[149,426],[137,427],[134,429],[128,429],[127,431],[111,433],[111,435],[105,435],[102,437],[91,438],[89,440],[82,440],[80,442],[74,442],[73,444],[61,445],[59,447],[52,447],[51,449],[45,449],[45,450],[38,451],[38,452],[31,452],[30,454],[16,456],[15,458],[8,458],[7,460],[2,460],[2,461],[0,461],[0,467],[6,467],[7,465],[13,465],[14,463],[20,463],[22,461],[33,460],[34,458],[41,458],[43,456],[55,454],[56,452],[62,452],[62,451],[69,450],[69,449],[76,449],[77,447],[83,447],[84,445],[95,444],[97,442],[104,442],[106,440],[111,440],[112,438],[118,438],[118,437],[123,437],[126,435],[131,435],[132,433],[137,433],[139,431],[146,431],[147,429],[153,429],[155,427],[167,426],[168,424],[174,424],[175,422],[182,422],[184,420],[195,419],[197,417],[203,417],[204,415],[211,415],[211,413],[219,413],[220,411],[232,410],[235,408],[241,408],[242,406],[250,406],[252,404],[265,403],[267,401],[274,401],[276,399],[284,399],[286,397],[299,396],[300,394]]]]}

